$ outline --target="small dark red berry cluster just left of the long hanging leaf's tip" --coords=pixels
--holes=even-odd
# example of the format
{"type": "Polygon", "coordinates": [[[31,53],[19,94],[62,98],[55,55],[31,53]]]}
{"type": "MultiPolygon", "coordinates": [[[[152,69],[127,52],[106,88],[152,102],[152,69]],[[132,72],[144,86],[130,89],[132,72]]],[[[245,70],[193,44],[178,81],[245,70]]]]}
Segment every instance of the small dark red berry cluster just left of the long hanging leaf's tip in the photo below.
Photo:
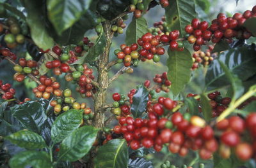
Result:
{"type": "MultiPolygon", "coordinates": [[[[153,78],[153,81],[157,83],[157,87],[155,88],[157,93],[161,92],[161,90],[164,92],[170,91],[169,87],[172,85],[172,82],[168,80],[167,72],[164,72],[163,74],[156,74],[156,76],[153,78]]],[[[149,87],[150,83],[145,81],[144,85],[145,87],[149,87]]]]}

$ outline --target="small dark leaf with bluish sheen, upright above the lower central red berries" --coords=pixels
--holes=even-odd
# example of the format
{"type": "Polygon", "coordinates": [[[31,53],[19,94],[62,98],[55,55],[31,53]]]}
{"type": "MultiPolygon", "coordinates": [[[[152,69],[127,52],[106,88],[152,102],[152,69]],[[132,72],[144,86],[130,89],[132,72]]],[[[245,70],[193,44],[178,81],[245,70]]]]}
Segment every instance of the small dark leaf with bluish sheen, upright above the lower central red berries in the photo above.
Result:
{"type": "Polygon", "coordinates": [[[146,111],[148,102],[148,90],[145,87],[139,87],[132,97],[131,112],[134,118],[138,118],[146,111]]]}

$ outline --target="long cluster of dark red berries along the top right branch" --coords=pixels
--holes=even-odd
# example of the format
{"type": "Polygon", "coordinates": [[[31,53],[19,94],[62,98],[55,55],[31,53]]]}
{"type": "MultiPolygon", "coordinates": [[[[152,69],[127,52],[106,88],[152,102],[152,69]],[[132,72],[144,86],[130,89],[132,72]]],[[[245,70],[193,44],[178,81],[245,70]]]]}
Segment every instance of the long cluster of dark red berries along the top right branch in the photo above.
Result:
{"type": "Polygon", "coordinates": [[[211,26],[208,22],[194,18],[191,25],[186,25],[185,31],[188,36],[189,43],[194,43],[195,51],[200,50],[201,45],[206,45],[208,41],[218,43],[221,39],[225,39],[228,43],[232,43],[232,38],[248,39],[252,36],[244,27],[244,22],[251,17],[256,16],[256,6],[252,11],[244,11],[243,14],[235,13],[233,17],[226,17],[224,13],[220,13],[218,17],[212,20],[211,26]]]}

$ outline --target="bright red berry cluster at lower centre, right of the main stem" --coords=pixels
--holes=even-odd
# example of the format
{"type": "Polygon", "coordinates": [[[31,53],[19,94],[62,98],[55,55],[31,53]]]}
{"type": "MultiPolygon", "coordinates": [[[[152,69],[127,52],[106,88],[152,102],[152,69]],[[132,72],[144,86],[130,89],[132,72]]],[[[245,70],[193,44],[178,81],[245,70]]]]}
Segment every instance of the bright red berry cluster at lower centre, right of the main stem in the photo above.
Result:
{"type": "Polygon", "coordinates": [[[164,129],[165,120],[167,119],[159,119],[159,116],[164,114],[164,108],[173,109],[176,104],[177,102],[172,101],[172,99],[161,97],[154,106],[150,106],[151,110],[148,111],[149,119],[134,119],[131,116],[121,116],[119,118],[120,125],[116,125],[113,132],[115,134],[123,134],[132,150],[136,150],[141,146],[145,146],[145,148],[154,146],[156,151],[160,151],[162,144],[157,143],[159,141],[157,139],[166,142],[166,136],[170,132],[164,129]]]}

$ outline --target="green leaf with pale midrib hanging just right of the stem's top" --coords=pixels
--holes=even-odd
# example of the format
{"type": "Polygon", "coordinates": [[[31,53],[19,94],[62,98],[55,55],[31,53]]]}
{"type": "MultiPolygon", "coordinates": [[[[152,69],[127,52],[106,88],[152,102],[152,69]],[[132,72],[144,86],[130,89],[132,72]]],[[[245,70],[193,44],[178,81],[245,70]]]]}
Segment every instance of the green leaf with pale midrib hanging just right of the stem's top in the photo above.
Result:
{"type": "Polygon", "coordinates": [[[125,43],[127,45],[137,43],[137,40],[146,32],[148,32],[147,20],[143,17],[137,19],[133,17],[126,30],[125,43]]]}

